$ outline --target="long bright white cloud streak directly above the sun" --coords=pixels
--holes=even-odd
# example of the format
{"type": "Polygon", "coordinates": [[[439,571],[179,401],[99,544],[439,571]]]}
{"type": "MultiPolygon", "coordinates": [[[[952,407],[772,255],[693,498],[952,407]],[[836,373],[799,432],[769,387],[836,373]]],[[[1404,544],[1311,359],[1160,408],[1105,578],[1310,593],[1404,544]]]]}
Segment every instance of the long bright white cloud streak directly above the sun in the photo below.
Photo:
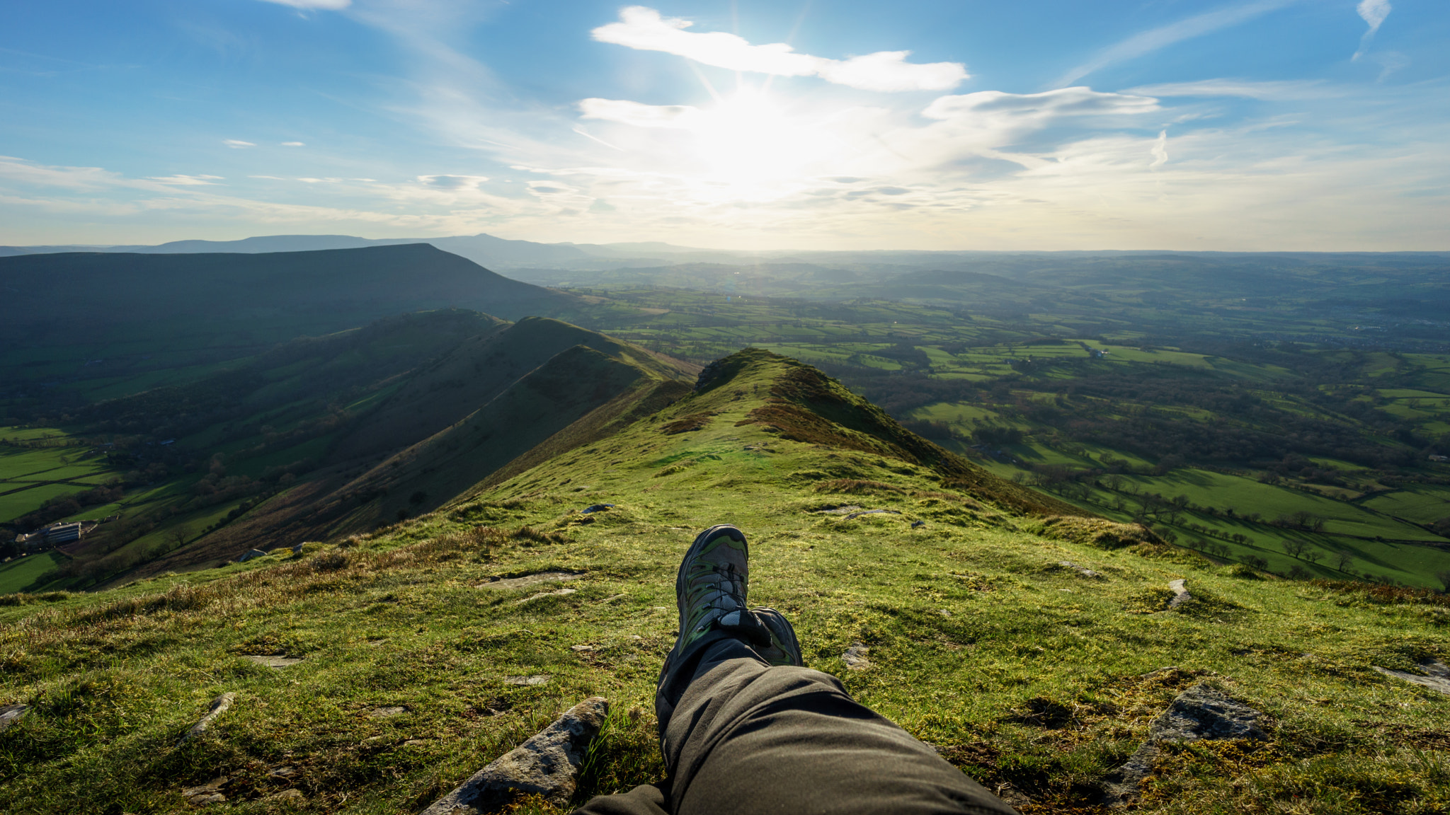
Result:
{"type": "Polygon", "coordinates": [[[663,51],[705,65],[777,77],[816,75],[828,83],[874,91],[948,90],[969,77],[960,62],[908,62],[909,51],[880,51],[850,59],[798,54],[784,42],[751,45],[725,32],[684,30],[695,23],[661,17],[645,6],[621,9],[618,23],[596,28],[594,39],[638,51],[663,51]]]}

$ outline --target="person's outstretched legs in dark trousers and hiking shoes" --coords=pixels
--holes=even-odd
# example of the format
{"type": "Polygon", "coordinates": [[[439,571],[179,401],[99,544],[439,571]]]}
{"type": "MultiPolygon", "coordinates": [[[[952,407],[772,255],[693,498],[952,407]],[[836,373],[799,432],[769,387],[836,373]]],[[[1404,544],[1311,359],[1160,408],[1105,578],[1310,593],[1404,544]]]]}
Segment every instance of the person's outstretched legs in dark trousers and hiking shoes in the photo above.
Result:
{"type": "Polygon", "coordinates": [[[784,616],[747,609],[745,561],[744,534],[713,526],[680,566],[680,638],[655,696],[668,785],[580,812],[1015,815],[834,676],[799,667],[784,616]]]}

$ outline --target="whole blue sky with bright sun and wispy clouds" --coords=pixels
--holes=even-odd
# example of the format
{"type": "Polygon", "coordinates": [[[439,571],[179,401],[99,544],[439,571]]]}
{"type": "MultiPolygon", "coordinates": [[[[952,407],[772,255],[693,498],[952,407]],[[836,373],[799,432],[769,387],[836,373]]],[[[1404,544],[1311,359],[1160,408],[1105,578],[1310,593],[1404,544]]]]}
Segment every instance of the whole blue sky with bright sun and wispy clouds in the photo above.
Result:
{"type": "Polygon", "coordinates": [[[1443,0],[0,6],[0,244],[1450,249],[1443,0]]]}

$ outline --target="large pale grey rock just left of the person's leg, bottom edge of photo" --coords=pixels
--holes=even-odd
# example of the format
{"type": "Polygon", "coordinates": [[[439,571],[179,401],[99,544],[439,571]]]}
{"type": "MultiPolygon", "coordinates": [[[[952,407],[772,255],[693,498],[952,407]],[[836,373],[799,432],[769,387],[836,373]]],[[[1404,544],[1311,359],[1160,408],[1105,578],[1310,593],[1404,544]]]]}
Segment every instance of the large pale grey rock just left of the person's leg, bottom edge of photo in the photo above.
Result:
{"type": "Polygon", "coordinates": [[[434,802],[422,815],[484,815],[499,812],[519,795],[541,795],[564,805],[589,742],[599,734],[609,702],[593,696],[515,750],[493,760],[458,789],[434,802]]]}

